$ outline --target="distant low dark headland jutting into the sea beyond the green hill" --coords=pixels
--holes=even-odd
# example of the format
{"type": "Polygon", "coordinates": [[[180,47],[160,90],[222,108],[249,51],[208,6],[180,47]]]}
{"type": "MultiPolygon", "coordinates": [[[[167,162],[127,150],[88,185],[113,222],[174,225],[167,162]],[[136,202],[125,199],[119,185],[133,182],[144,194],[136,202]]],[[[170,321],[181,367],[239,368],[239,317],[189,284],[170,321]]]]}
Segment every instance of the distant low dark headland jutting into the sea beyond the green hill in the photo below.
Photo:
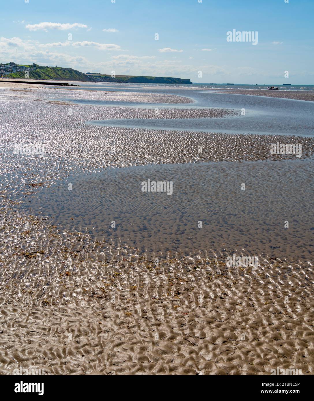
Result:
{"type": "Polygon", "coordinates": [[[146,77],[140,75],[116,75],[114,78],[109,74],[87,73],[91,81],[98,82],[125,82],[125,83],[180,83],[192,84],[190,79],[173,77],[146,77]]]}

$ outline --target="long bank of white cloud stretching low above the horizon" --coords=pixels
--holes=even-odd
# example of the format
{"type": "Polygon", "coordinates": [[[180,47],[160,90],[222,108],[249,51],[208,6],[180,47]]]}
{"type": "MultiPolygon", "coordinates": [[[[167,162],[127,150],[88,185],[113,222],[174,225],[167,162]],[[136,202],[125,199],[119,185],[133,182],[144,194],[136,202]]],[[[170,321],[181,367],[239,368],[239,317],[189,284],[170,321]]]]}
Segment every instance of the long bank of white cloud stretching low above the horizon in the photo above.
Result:
{"type": "MultiPolygon", "coordinates": [[[[199,49],[201,50],[201,49],[199,49]]],[[[280,72],[274,76],[269,71],[253,69],[249,67],[235,67],[233,65],[206,65],[202,61],[188,59],[180,61],[176,58],[158,60],[158,56],[136,56],[131,54],[120,54],[122,50],[118,45],[97,42],[56,42],[42,44],[35,40],[22,40],[18,37],[0,37],[0,60],[3,62],[14,61],[15,63],[39,65],[58,65],[59,67],[71,67],[79,71],[100,71],[117,75],[150,75],[159,77],[190,78],[198,82],[198,71],[203,72],[203,80],[209,82],[241,82],[247,76],[251,77],[282,77],[280,72]],[[95,50],[118,50],[104,59],[103,52],[95,50]],[[230,81],[229,81],[230,80],[230,81]]],[[[188,53],[186,53],[188,58],[188,53]]],[[[290,71],[292,74],[292,71],[290,71]]],[[[294,75],[313,76],[314,73],[305,71],[294,72],[294,75]],[[302,75],[303,74],[303,75],[302,75]]],[[[256,81],[258,82],[258,81],[256,81]]]]}

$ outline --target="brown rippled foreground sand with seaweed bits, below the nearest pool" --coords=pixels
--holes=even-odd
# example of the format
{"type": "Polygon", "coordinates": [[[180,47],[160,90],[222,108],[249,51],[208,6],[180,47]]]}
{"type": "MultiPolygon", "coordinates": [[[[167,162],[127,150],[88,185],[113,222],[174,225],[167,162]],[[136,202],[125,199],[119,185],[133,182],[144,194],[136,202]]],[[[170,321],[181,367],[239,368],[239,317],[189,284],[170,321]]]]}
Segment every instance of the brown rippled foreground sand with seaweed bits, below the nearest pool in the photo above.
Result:
{"type": "Polygon", "coordinates": [[[87,235],[36,218],[25,233],[26,216],[4,217],[0,373],[313,374],[310,264],[227,269],[223,253],[169,253],[156,268],[132,249],[103,261],[87,235]],[[19,254],[22,238],[38,253],[19,254]],[[88,252],[69,250],[83,242],[88,252]]]}

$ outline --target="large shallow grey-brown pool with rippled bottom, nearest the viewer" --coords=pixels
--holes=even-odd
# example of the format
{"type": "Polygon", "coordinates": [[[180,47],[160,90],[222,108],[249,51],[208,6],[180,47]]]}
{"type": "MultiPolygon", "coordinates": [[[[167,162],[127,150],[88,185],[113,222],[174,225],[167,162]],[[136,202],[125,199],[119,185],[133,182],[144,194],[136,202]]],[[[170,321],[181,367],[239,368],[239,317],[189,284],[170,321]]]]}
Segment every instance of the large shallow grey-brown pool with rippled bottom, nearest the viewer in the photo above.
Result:
{"type": "Polygon", "coordinates": [[[26,203],[57,225],[149,254],[237,248],[310,260],[312,172],[313,159],[109,169],[63,180],[26,203]],[[173,193],[142,192],[148,178],[172,181],[173,193]]]}

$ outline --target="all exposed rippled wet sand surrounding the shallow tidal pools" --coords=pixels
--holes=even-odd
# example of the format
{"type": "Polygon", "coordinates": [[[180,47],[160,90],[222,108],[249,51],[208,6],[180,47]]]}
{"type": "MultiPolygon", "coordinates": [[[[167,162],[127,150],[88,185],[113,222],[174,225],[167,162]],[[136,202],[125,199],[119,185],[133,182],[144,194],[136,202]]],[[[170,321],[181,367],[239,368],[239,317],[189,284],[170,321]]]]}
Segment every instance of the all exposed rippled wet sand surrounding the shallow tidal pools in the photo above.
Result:
{"type": "MultiPolygon", "coordinates": [[[[227,268],[235,249],[247,255],[241,240],[202,254],[166,251],[156,267],[135,247],[100,241],[85,227],[60,227],[20,204],[60,179],[105,167],[224,160],[279,166],[289,157],[270,155],[277,139],[302,143],[302,158],[312,160],[313,139],[87,126],[142,111],[49,103],[73,96],[51,91],[0,91],[0,373],[22,366],[52,374],[245,375],[276,367],[313,374],[312,260],[265,252],[256,269],[227,268]],[[45,143],[47,154],[14,155],[19,142],[45,143]]],[[[149,95],[143,101],[162,100],[149,95]]],[[[173,103],[170,97],[164,100],[173,103]]],[[[290,163],[297,168],[298,160],[290,163]]],[[[311,248],[304,248],[308,257],[311,248]]]]}

